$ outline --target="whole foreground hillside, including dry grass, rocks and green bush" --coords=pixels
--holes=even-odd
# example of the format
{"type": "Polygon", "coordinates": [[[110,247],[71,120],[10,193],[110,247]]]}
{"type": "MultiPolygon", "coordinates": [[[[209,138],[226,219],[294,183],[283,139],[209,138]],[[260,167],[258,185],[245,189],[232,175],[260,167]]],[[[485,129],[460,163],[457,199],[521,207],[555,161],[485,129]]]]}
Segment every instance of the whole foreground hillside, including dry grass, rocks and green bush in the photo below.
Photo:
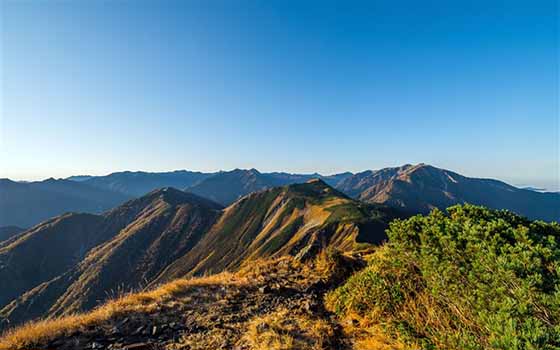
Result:
{"type": "Polygon", "coordinates": [[[0,350],[560,346],[557,223],[465,205],[388,234],[369,252],[259,259],[119,296],[11,330],[0,350]]]}

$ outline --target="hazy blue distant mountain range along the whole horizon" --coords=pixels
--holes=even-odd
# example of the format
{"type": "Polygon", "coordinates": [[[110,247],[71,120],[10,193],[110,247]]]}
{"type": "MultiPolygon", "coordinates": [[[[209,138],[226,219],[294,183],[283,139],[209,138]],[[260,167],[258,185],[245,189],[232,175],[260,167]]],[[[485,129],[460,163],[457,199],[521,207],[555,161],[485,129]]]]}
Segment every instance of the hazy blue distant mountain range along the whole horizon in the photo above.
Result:
{"type": "Polygon", "coordinates": [[[163,187],[192,192],[227,206],[249,193],[305,183],[313,178],[354,199],[410,212],[425,213],[432,208],[445,209],[469,202],[509,209],[531,219],[560,220],[559,193],[521,189],[498,180],[468,178],[418,164],[331,176],[235,169],[216,173],[125,171],[30,183],[3,179],[0,180],[0,226],[31,227],[69,211],[100,213],[163,187]]]}

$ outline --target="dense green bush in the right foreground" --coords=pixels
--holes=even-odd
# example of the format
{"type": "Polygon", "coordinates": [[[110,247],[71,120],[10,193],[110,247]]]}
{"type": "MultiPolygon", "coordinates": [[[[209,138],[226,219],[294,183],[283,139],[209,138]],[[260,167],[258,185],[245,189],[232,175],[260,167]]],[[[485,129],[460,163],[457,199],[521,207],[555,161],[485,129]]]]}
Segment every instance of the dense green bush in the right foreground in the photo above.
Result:
{"type": "Polygon", "coordinates": [[[330,306],[426,349],[560,348],[560,225],[472,205],[448,213],[394,221],[330,306]]]}

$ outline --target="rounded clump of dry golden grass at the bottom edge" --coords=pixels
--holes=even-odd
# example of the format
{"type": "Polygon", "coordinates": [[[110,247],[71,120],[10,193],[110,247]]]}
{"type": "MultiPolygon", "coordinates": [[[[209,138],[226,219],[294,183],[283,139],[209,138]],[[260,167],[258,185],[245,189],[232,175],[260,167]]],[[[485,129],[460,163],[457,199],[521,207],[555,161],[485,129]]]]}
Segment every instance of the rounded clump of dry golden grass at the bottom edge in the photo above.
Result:
{"type": "Polygon", "coordinates": [[[323,319],[287,309],[279,309],[252,319],[242,343],[254,350],[325,349],[334,335],[323,319]]]}

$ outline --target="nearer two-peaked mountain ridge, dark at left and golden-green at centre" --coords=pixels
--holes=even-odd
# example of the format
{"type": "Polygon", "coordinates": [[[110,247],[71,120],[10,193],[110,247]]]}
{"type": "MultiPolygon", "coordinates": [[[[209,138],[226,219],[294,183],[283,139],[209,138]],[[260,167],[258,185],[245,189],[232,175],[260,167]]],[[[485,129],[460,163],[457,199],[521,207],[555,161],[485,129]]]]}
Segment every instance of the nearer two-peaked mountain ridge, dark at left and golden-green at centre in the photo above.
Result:
{"type": "Polygon", "coordinates": [[[173,188],[104,213],[66,214],[0,245],[0,320],[89,310],[175,277],[237,269],[322,248],[380,243],[398,213],[354,201],[321,180],[252,193],[222,209],[173,188]],[[29,259],[33,256],[33,259],[29,259]]]}

